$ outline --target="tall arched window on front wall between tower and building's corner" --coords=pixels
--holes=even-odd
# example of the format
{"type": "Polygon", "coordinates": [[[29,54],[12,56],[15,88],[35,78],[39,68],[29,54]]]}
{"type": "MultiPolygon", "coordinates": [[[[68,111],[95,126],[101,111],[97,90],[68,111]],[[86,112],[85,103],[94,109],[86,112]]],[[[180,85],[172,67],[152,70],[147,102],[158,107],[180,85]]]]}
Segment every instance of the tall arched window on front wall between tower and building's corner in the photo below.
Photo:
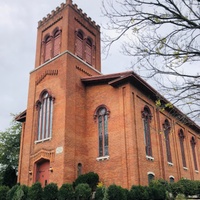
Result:
{"type": "Polygon", "coordinates": [[[108,115],[105,106],[100,106],[95,115],[98,120],[99,157],[108,156],[108,115]]]}

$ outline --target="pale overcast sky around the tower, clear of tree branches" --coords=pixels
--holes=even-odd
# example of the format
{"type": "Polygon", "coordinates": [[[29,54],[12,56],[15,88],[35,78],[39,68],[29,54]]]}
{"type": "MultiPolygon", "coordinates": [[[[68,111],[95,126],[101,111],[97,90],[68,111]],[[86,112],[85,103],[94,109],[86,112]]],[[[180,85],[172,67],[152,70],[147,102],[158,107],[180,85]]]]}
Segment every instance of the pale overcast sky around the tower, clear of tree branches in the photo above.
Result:
{"type": "MultiPolygon", "coordinates": [[[[38,21],[66,0],[0,0],[0,131],[9,127],[11,113],[26,109],[29,72],[34,68],[38,21]]],[[[100,26],[105,23],[101,0],[73,0],[100,26]]],[[[103,28],[101,31],[104,32],[103,28]]],[[[102,60],[104,74],[130,70],[130,62],[112,48],[102,60]]]]}

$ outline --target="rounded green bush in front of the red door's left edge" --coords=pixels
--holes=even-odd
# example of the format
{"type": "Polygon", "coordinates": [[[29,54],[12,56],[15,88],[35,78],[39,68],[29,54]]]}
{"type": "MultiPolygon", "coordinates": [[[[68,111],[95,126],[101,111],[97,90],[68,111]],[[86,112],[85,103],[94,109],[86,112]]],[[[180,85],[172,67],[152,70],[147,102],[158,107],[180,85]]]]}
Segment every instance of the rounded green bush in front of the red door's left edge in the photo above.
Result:
{"type": "Polygon", "coordinates": [[[42,200],[42,185],[39,182],[34,183],[28,190],[28,199],[42,200]]]}

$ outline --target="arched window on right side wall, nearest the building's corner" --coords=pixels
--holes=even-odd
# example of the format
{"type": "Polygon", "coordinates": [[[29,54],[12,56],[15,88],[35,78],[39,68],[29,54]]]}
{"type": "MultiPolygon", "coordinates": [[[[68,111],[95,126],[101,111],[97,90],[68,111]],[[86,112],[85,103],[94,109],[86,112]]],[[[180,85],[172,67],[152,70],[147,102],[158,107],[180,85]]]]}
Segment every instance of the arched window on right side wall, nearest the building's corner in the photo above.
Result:
{"type": "Polygon", "coordinates": [[[150,122],[151,122],[151,111],[149,107],[145,106],[142,111],[142,118],[144,123],[144,137],[145,137],[145,150],[146,155],[152,157],[152,146],[151,146],[151,135],[150,135],[150,122]]]}

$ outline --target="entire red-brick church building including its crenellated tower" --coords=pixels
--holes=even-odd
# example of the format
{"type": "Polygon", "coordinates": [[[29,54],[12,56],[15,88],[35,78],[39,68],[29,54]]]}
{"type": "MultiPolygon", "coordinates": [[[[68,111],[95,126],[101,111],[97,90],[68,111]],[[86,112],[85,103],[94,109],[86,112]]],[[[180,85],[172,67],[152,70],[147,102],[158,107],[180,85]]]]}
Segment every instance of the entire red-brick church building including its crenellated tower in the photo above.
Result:
{"type": "Polygon", "coordinates": [[[18,182],[61,186],[98,173],[130,188],[200,179],[200,127],[133,71],[101,73],[100,27],[71,0],[38,22],[18,182]]]}

